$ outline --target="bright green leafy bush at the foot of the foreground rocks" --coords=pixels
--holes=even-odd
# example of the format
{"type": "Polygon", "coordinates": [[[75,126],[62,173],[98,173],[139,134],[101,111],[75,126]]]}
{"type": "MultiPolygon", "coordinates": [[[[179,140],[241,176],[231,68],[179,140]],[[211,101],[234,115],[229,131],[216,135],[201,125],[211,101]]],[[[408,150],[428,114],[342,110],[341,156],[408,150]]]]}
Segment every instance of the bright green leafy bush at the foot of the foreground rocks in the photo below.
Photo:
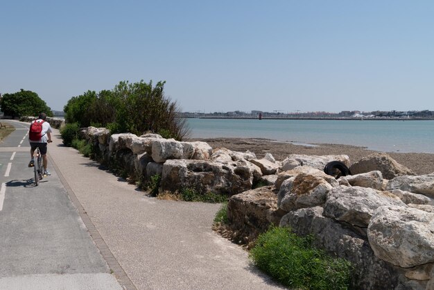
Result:
{"type": "Polygon", "coordinates": [[[259,235],[250,258],[262,271],[295,289],[347,289],[351,264],[312,246],[289,228],[270,228],[259,235]]]}

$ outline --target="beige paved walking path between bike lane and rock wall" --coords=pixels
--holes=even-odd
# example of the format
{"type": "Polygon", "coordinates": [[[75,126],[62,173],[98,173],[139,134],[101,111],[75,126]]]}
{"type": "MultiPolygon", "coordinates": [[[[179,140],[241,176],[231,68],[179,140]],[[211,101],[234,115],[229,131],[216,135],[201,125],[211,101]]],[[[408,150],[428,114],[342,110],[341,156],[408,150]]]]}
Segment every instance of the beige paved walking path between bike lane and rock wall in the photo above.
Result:
{"type": "Polygon", "coordinates": [[[58,130],[49,157],[124,288],[281,289],[211,230],[219,205],[148,197],[62,146],[58,130]]]}

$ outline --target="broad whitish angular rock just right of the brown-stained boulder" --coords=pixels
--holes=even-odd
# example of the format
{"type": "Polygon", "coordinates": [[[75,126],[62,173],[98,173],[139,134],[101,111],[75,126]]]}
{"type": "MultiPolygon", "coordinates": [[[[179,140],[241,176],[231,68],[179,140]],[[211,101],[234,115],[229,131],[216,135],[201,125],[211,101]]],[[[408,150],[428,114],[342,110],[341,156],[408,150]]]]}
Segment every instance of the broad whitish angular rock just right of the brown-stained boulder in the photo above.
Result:
{"type": "Polygon", "coordinates": [[[374,211],[383,205],[406,207],[397,196],[387,191],[340,185],[329,191],[324,216],[366,228],[374,211]]]}

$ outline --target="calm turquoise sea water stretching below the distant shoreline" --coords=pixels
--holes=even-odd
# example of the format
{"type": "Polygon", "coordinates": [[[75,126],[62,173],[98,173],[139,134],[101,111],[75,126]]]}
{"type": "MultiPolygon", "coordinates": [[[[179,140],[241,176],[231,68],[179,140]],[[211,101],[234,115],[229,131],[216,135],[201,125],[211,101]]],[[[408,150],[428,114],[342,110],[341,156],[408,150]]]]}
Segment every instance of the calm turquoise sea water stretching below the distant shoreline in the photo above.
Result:
{"type": "Polygon", "coordinates": [[[187,119],[191,137],[251,137],[434,153],[434,121],[187,119]]]}

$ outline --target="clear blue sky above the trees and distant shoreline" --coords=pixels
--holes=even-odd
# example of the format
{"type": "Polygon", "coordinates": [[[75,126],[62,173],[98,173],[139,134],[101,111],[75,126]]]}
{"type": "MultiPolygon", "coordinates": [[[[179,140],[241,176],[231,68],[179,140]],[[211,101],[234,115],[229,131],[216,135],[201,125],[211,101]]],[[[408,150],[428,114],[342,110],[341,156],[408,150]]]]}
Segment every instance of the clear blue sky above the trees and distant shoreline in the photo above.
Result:
{"type": "Polygon", "coordinates": [[[166,80],[184,111],[434,110],[434,1],[1,1],[0,92],[166,80]]]}

